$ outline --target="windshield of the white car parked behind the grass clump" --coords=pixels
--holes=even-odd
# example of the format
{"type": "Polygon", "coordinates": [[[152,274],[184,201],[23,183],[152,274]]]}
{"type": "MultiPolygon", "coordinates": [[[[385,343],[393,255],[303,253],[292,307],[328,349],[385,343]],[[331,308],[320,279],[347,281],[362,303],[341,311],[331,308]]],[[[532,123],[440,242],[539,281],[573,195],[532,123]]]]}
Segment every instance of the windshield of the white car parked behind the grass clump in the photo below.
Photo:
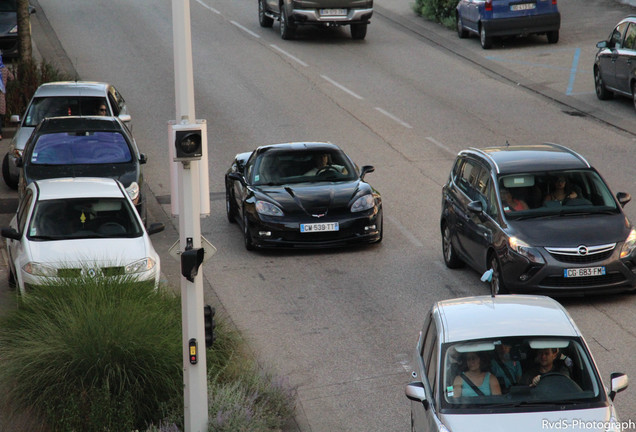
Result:
{"type": "Polygon", "coordinates": [[[139,237],[143,231],[135,211],[124,198],[38,201],[27,237],[36,241],[139,237]]]}

